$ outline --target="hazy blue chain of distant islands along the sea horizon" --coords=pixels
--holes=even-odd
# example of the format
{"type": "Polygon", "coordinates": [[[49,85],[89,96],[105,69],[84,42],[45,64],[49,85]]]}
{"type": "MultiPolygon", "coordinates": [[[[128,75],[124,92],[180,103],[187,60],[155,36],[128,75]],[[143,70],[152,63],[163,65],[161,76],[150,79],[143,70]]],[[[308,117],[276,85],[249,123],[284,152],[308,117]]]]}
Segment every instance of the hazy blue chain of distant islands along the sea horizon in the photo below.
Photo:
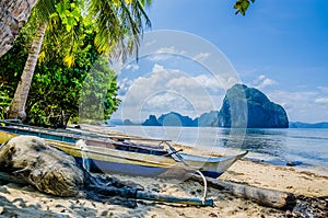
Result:
{"type": "Polygon", "coordinates": [[[248,88],[245,84],[235,84],[226,91],[220,111],[203,113],[194,119],[176,112],[169,112],[162,114],[159,118],[155,115],[150,115],[141,124],[134,124],[130,119],[114,119],[108,124],[127,126],[328,128],[328,123],[289,122],[288,115],[281,105],[271,102],[258,89],[248,88]]]}

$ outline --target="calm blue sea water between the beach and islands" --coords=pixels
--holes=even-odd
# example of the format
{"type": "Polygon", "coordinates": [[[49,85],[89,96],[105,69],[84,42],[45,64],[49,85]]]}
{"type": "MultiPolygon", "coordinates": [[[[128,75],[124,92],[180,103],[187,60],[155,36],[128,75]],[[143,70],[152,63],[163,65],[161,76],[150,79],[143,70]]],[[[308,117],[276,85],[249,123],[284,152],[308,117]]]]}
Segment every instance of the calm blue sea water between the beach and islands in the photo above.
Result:
{"type": "Polygon", "coordinates": [[[247,157],[277,165],[328,169],[328,129],[227,129],[211,127],[109,127],[126,134],[169,139],[225,154],[249,150],[247,157]]]}

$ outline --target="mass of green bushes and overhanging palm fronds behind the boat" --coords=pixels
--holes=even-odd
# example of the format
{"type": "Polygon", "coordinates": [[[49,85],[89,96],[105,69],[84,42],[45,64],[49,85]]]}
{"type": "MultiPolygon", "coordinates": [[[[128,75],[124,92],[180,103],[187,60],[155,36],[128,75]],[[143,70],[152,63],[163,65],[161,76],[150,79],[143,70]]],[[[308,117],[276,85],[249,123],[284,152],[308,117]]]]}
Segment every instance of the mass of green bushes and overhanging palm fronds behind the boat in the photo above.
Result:
{"type": "MultiPolygon", "coordinates": [[[[118,88],[115,72],[99,59],[99,55],[107,56],[106,53],[110,51],[126,57],[138,48],[143,26],[150,26],[144,12],[150,3],[151,0],[38,1],[22,31],[21,43],[15,43],[9,51],[7,57],[10,58],[0,59],[0,66],[3,66],[1,79],[4,78],[2,83],[7,90],[2,91],[1,87],[1,96],[12,97],[35,26],[47,23],[42,51],[34,54],[38,56],[39,65],[34,71],[25,105],[27,122],[58,126],[65,125],[68,118],[77,119],[79,102],[83,102],[81,94],[83,100],[101,101],[95,107],[86,107],[89,111],[84,110],[83,116],[90,117],[87,113],[91,113],[97,118],[108,118],[119,104],[116,99],[118,88]],[[116,53],[114,48],[118,48],[116,53]],[[20,59],[13,59],[17,55],[20,59]],[[99,61],[95,62],[97,59],[99,61]],[[86,81],[93,81],[90,87],[83,83],[86,77],[86,81]]],[[[93,102],[84,103],[90,105],[93,102]]]]}

